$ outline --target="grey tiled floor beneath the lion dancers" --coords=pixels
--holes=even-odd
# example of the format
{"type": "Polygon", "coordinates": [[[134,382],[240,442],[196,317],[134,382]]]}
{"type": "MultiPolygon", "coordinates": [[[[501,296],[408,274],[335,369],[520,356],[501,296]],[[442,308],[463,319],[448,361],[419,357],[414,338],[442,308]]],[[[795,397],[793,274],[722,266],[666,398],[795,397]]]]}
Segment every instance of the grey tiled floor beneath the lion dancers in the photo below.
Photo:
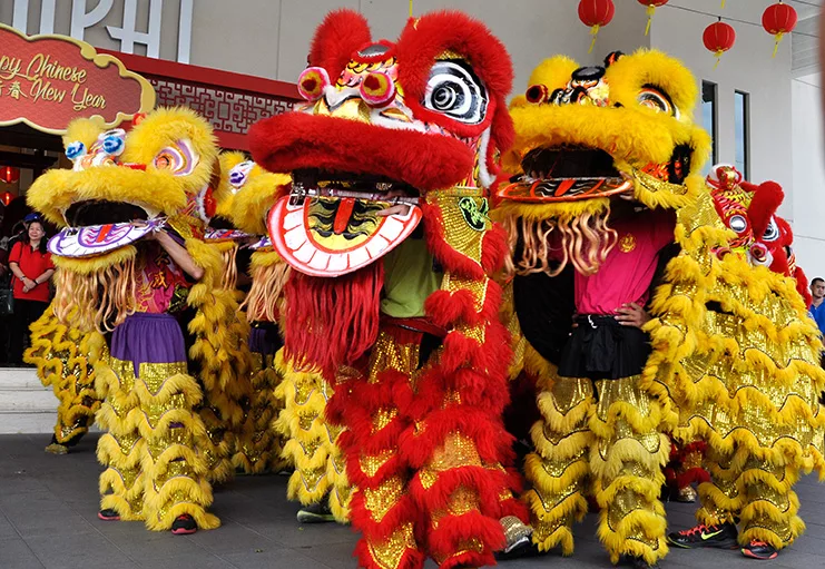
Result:
{"type": "MultiPolygon", "coordinates": [[[[286,478],[279,475],[240,477],[216,489],[213,511],[223,526],[215,531],[175,537],[136,522],[99,521],[96,440],[90,436],[72,454],[53,457],[42,450],[47,435],[0,435],[0,569],[355,568],[352,531],[298,526],[297,507],[287,502],[286,478]]],[[[760,563],[736,551],[678,550],[662,568],[825,567],[825,488],[807,477],[797,490],[807,533],[776,561],[760,563]]],[[[693,511],[690,504],[668,504],[670,526],[691,526],[693,511]]],[[[503,567],[610,567],[595,528],[595,516],[577,526],[572,558],[550,555],[503,567]]]]}

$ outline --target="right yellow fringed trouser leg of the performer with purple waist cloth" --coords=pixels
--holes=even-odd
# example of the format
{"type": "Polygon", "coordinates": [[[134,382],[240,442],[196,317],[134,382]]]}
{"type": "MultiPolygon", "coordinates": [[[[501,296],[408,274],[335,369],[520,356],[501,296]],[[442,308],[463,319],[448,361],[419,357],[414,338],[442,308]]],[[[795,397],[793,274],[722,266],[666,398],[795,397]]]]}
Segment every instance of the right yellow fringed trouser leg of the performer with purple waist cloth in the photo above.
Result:
{"type": "MultiPolygon", "coordinates": [[[[184,513],[200,529],[220,526],[217,517],[206,511],[212,504],[203,452],[207,433],[195,411],[203,394],[186,373],[186,364],[144,363],[136,377],[131,362],[111,359],[110,370],[119,380],[118,394],[130,403],[128,412],[118,412],[120,423],[141,439],[138,449],[146,527],[168,530],[184,513]]],[[[112,399],[108,396],[107,403],[112,399]]]]}

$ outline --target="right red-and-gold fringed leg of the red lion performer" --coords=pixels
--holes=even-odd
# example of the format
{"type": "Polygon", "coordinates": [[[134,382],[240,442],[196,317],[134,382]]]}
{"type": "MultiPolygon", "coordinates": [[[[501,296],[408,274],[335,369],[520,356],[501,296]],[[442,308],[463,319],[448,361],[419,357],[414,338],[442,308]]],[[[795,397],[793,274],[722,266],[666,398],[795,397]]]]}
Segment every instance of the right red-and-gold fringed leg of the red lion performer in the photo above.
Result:
{"type": "MultiPolygon", "coordinates": [[[[494,345],[495,331],[487,333],[494,345]]],[[[415,374],[414,399],[404,409],[412,424],[401,448],[415,471],[411,492],[424,517],[420,541],[443,569],[493,565],[493,552],[507,545],[502,520],[529,518],[513,498],[513,473],[502,468],[512,459],[501,420],[507,382],[499,383],[504,377],[489,362],[456,367],[451,340],[466,336],[448,337],[443,352],[415,374]]]]}

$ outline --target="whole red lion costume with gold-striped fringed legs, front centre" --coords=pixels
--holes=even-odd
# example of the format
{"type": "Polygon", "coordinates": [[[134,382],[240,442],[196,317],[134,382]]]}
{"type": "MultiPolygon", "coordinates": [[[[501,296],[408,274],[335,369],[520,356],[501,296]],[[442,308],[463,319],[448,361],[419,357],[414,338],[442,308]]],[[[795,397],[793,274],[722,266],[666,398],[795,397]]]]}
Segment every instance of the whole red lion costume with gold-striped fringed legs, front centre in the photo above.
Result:
{"type": "Polygon", "coordinates": [[[286,355],[335,382],[360,563],[491,565],[500,518],[523,509],[501,465],[510,349],[489,275],[505,239],[485,197],[512,137],[509,57],[459,12],[393,43],[337,11],[308,61],[307,102],[255,125],[251,148],[292,175],[268,216],[292,268],[286,355]]]}

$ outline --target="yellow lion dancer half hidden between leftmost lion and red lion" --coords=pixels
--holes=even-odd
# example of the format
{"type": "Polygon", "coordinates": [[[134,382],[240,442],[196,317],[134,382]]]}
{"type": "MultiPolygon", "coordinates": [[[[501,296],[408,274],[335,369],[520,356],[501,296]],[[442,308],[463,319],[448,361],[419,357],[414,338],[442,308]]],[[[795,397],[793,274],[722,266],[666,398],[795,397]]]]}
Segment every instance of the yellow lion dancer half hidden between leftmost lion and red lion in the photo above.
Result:
{"type": "Polygon", "coordinates": [[[295,467],[287,496],[303,504],[299,522],[346,523],[351,489],[345,458],[336,444],[342,428],[325,416],[333,387],[317,371],[297,371],[285,361],[278,330],[289,267],[265,236],[265,219],[277,189],[289,178],[267,173],[237,153],[225,154],[223,163],[235,193],[233,223],[254,236],[252,288],[244,307],[252,325],[249,346],[259,359],[252,406],[262,450],[268,449],[276,468],[281,461],[295,467]]]}

